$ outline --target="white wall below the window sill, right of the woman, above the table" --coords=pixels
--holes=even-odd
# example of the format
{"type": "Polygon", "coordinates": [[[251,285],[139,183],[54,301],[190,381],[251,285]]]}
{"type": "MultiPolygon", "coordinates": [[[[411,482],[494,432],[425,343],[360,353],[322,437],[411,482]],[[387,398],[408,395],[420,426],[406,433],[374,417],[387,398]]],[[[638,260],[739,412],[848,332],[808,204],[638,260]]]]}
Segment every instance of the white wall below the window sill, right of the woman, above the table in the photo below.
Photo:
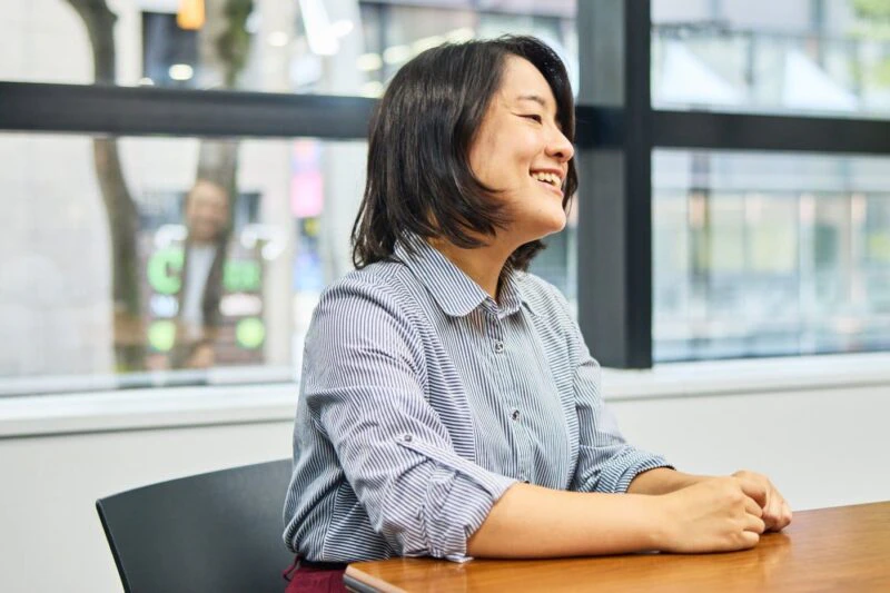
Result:
{"type": "Polygon", "coordinates": [[[792,508],[890,500],[890,386],[616,403],[625,436],[699,474],[754,470],[792,508]]]}

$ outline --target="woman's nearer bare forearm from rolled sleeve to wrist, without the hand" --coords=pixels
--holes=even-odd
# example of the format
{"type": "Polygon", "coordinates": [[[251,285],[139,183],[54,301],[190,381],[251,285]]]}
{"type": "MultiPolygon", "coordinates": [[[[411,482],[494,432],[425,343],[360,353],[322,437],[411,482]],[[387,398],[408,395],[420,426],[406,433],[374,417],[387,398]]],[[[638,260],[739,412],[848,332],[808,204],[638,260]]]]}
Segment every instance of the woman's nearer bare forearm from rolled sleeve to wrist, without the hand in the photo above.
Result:
{"type": "Polygon", "coordinates": [[[516,484],[467,542],[477,557],[621,554],[659,547],[651,496],[563,492],[516,484]]]}

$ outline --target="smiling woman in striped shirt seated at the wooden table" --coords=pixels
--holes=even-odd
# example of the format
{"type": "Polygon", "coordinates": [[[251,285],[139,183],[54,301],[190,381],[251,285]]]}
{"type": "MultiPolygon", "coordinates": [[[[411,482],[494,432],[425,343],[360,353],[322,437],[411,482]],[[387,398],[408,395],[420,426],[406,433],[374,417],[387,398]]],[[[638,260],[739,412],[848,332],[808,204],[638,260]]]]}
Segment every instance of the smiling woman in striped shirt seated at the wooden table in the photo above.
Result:
{"type": "Polygon", "coordinates": [[[751,547],[763,476],[683,474],[621,436],[558,291],[523,271],[576,187],[565,68],[527,37],[431,49],[372,123],[356,271],[306,342],[291,590],[390,556],[751,547]]]}

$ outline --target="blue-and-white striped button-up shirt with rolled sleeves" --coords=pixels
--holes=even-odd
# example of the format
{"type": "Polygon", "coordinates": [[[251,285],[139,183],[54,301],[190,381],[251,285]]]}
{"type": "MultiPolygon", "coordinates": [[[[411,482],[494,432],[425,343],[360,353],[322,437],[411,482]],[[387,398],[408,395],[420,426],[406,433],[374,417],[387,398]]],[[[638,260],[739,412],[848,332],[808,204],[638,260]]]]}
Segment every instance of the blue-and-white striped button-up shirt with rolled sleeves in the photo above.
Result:
{"type": "Polygon", "coordinates": [[[308,561],[468,560],[516,482],[624,492],[626,444],[563,296],[513,271],[500,303],[416,237],[325,289],[306,339],[285,502],[308,561]]]}

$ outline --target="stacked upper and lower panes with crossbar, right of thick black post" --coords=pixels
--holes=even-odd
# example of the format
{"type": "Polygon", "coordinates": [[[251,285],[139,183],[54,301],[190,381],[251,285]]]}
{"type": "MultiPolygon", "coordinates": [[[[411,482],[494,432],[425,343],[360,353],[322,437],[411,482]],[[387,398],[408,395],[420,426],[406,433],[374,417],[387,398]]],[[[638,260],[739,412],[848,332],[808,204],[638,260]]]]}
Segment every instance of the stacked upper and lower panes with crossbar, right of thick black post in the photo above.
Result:
{"type": "MultiPolygon", "coordinates": [[[[653,107],[890,116],[888,7],[762,4],[655,0],[653,107]]],[[[781,122],[771,132],[792,135],[781,122]]],[[[815,136],[825,152],[720,150],[731,136],[716,150],[655,149],[654,360],[890,345],[873,247],[890,231],[890,157],[832,154],[815,136]]]]}

